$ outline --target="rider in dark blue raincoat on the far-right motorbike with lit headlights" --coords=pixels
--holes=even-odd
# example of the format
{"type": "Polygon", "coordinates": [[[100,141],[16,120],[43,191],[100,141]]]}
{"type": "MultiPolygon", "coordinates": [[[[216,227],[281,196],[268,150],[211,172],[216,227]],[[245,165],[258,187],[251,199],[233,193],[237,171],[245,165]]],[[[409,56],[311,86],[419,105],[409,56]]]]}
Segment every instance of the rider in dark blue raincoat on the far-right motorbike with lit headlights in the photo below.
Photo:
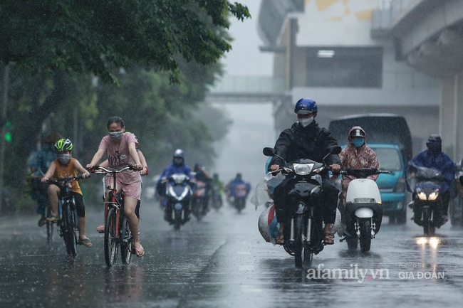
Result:
{"type": "MultiPolygon", "coordinates": [[[[439,191],[439,198],[442,198],[442,208],[437,208],[437,211],[440,211],[440,213],[437,212],[437,217],[441,217],[441,225],[443,225],[448,221],[447,213],[449,210],[449,201],[451,198],[457,196],[457,188],[455,185],[457,164],[455,164],[455,162],[447,154],[442,152],[442,138],[438,134],[430,135],[427,139],[426,147],[427,150],[417,154],[417,156],[409,162],[409,166],[415,165],[433,168],[441,172],[442,178],[444,179],[439,191]]],[[[407,188],[410,191],[410,187],[408,187],[408,185],[407,188]]],[[[419,220],[421,217],[420,209],[415,207],[413,212],[415,213],[414,218],[419,220]]]]}

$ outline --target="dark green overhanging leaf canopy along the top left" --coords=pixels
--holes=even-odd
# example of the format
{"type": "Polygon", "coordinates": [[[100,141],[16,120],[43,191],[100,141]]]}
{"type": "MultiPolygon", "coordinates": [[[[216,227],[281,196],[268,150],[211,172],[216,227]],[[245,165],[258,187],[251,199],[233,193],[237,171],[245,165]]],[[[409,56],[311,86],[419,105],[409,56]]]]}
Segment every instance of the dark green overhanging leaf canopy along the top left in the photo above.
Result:
{"type": "Polygon", "coordinates": [[[136,63],[177,82],[179,57],[209,65],[229,51],[219,31],[229,27],[229,14],[250,16],[246,6],[225,0],[2,0],[0,60],[112,83],[112,68],[136,63]]]}

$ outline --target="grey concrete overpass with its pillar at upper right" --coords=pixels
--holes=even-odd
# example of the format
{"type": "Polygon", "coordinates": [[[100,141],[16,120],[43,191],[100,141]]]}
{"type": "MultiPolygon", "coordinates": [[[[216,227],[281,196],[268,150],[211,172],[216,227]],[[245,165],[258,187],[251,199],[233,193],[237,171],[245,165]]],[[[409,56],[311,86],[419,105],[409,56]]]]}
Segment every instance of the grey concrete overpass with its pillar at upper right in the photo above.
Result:
{"type": "Polygon", "coordinates": [[[374,12],[371,35],[392,39],[396,60],[439,78],[439,134],[463,156],[463,1],[392,0],[374,12]]]}

